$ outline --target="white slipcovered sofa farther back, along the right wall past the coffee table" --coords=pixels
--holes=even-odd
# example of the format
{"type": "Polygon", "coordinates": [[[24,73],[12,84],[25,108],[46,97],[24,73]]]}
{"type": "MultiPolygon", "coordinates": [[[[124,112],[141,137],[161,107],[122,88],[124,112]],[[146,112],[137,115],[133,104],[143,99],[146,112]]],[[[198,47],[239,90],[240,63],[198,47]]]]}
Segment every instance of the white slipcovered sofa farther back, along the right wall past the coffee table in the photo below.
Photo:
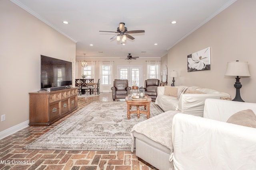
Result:
{"type": "Polygon", "coordinates": [[[157,98],[155,101],[155,104],[160,106],[164,111],[176,110],[181,113],[189,113],[202,117],[205,99],[230,98],[230,95],[227,93],[198,86],[177,86],[177,96],[168,96],[164,95],[166,87],[168,86],[159,86],[157,88],[157,98]],[[196,90],[204,94],[186,94],[186,89],[196,90]]]}

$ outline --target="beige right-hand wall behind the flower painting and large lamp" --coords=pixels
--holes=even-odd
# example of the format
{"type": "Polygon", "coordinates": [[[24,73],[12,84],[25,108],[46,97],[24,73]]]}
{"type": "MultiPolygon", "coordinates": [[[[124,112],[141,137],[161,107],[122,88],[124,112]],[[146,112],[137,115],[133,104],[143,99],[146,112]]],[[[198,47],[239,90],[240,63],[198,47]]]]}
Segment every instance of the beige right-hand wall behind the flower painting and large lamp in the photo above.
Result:
{"type": "MultiPolygon", "coordinates": [[[[201,86],[235,97],[235,77],[224,76],[229,61],[248,61],[251,76],[241,78],[241,97],[256,102],[256,1],[237,0],[168,51],[168,69],[177,70],[175,85],[201,86]],[[187,72],[187,55],[210,47],[211,70],[187,72]]],[[[170,80],[170,79],[169,79],[170,80]]]]}

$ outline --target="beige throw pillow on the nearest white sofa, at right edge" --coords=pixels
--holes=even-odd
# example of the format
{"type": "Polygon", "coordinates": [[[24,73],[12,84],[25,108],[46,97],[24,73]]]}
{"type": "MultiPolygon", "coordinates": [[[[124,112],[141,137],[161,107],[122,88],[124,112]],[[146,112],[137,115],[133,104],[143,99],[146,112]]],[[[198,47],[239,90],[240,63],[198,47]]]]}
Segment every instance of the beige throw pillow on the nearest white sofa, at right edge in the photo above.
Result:
{"type": "Polygon", "coordinates": [[[227,123],[256,128],[256,115],[251,109],[238,111],[230,116],[227,123]]]}

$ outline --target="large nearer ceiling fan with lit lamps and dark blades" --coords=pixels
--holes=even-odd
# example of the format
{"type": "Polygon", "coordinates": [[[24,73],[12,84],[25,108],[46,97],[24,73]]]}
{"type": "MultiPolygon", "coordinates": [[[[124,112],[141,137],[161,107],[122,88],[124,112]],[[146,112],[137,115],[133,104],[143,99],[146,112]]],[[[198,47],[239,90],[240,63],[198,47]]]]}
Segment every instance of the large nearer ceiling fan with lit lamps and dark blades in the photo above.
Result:
{"type": "Polygon", "coordinates": [[[122,42],[124,42],[126,40],[126,37],[129,39],[135,39],[134,37],[132,37],[131,35],[129,35],[129,33],[144,33],[144,30],[133,30],[133,31],[128,31],[126,27],[124,27],[123,22],[119,23],[119,27],[117,27],[116,31],[100,31],[100,32],[108,32],[108,33],[118,33],[117,35],[115,35],[114,37],[110,38],[110,39],[114,39],[116,38],[117,41],[122,40],[122,42]]]}

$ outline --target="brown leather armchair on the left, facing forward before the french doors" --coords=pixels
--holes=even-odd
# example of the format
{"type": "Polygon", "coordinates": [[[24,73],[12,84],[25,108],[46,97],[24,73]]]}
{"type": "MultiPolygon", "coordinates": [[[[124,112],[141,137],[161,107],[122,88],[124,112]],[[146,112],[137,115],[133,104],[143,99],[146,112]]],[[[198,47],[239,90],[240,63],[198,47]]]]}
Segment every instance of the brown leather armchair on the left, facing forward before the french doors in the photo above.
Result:
{"type": "Polygon", "coordinates": [[[113,100],[124,99],[130,94],[131,89],[132,88],[128,86],[128,80],[115,79],[113,87],[111,87],[113,100]]]}

